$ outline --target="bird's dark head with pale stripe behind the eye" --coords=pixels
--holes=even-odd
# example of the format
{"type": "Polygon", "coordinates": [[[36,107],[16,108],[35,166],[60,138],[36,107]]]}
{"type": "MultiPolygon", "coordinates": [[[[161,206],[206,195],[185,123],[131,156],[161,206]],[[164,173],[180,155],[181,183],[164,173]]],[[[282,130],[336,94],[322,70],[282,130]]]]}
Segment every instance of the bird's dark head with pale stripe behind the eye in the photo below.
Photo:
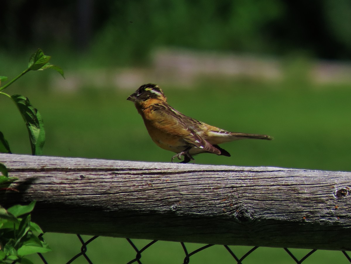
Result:
{"type": "Polygon", "coordinates": [[[144,84],[135,93],[131,94],[127,100],[134,103],[142,103],[148,99],[160,99],[166,101],[166,97],[160,87],[155,84],[144,84]]]}

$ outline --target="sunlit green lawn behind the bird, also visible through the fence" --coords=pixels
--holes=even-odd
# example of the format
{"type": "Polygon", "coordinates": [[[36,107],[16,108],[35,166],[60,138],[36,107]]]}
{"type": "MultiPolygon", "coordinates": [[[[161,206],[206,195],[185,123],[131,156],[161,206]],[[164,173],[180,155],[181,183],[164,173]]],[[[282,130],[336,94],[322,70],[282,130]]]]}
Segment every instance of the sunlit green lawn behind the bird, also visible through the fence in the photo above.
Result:
{"type": "MultiPolygon", "coordinates": [[[[195,157],[197,164],[351,171],[348,85],[234,79],[206,80],[191,90],[163,88],[168,102],[186,115],[226,130],[274,137],[272,141],[223,144],[232,157],[201,154],[195,157]]],[[[152,142],[134,105],[126,100],[134,91],[111,88],[95,91],[87,87],[69,94],[10,87],[8,93],[12,92],[10,89],[29,97],[44,118],[47,133],[44,155],[161,162],[169,162],[173,156],[152,142]]],[[[14,153],[29,154],[26,128],[15,110],[7,98],[0,98],[0,131],[14,153]]],[[[79,252],[78,239],[73,235],[48,233],[45,238],[54,250],[45,255],[49,263],[65,263],[79,252]]],[[[233,248],[238,252],[248,249],[233,248]]],[[[179,243],[159,242],[143,254],[143,259],[145,263],[181,263],[184,258],[181,252],[179,243]]],[[[93,263],[102,263],[101,259],[103,263],[126,263],[135,252],[125,239],[98,238],[88,246],[88,255],[93,263]]],[[[85,263],[80,258],[74,263],[85,263]]],[[[283,249],[267,248],[258,249],[247,262],[276,263],[277,259],[279,263],[294,263],[283,249]],[[262,256],[270,258],[266,261],[262,256]]],[[[317,251],[304,263],[346,263],[345,260],[341,252],[317,251]]],[[[193,264],[232,262],[232,257],[220,246],[191,258],[193,264]]]]}

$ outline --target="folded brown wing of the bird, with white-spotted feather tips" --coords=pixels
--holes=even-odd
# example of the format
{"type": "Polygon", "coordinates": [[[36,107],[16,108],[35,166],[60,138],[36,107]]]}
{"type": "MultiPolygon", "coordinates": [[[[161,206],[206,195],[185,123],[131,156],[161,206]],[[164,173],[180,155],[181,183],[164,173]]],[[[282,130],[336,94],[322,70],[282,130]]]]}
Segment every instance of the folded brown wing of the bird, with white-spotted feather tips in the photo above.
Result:
{"type": "Polygon", "coordinates": [[[218,148],[196,133],[203,129],[203,123],[200,121],[187,117],[168,105],[154,104],[151,112],[158,116],[157,119],[153,118],[155,120],[153,125],[158,129],[182,137],[188,146],[200,148],[204,152],[212,152],[217,155],[221,153],[218,148]]]}

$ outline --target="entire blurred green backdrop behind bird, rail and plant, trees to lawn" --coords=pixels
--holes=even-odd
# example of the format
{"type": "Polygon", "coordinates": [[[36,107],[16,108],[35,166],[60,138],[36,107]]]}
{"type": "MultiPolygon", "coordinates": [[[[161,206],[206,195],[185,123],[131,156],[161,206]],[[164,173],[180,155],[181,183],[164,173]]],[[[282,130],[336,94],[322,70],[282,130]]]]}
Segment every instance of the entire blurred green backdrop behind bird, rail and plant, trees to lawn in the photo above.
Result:
{"type": "MultiPolygon", "coordinates": [[[[13,0],[1,2],[0,25],[0,75],[15,77],[38,47],[65,71],[66,79],[31,72],[5,90],[27,96],[40,111],[45,155],[170,162],[173,153],[152,142],[126,100],[156,83],[186,115],[274,137],[227,143],[232,157],[202,154],[197,164],[351,171],[348,0],[13,0]]],[[[6,97],[0,113],[12,151],[29,154],[26,128],[6,97]]],[[[45,237],[53,248],[49,263],[79,251],[73,235],[45,237]]],[[[245,263],[294,263],[282,249],[259,251],[245,263]]],[[[88,255],[94,263],[126,263],[135,253],[125,239],[98,238],[88,255]]],[[[227,255],[211,247],[191,263],[232,263],[227,255]]],[[[183,258],[180,244],[159,242],[145,263],[183,258]]],[[[347,263],[332,251],[304,263],[330,262],[347,263]]]]}

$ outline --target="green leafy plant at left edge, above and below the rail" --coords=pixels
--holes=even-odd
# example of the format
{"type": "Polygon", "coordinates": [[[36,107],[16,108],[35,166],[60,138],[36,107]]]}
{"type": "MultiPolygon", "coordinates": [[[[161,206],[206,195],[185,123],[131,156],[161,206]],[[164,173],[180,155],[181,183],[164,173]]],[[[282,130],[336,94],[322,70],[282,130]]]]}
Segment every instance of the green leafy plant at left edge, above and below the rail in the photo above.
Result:
{"type": "MultiPolygon", "coordinates": [[[[48,63],[50,59],[50,56],[45,55],[41,49],[38,49],[29,59],[28,68],[25,71],[9,81],[6,85],[0,86],[0,94],[5,95],[13,101],[25,121],[33,155],[40,155],[45,143],[45,130],[41,115],[29,102],[28,98],[19,94],[9,95],[3,91],[29,71],[52,68],[64,77],[60,67],[48,63]]],[[[6,80],[7,77],[0,76],[0,85],[1,81],[6,80]]],[[[8,141],[5,139],[2,132],[0,132],[0,153],[11,153],[8,141]]],[[[17,191],[8,188],[16,178],[8,177],[7,168],[1,163],[0,173],[0,191],[17,191]]],[[[30,213],[34,205],[35,201],[31,202],[29,205],[14,205],[7,210],[0,206],[0,263],[16,262],[30,264],[32,262],[24,258],[26,255],[50,251],[41,236],[35,234],[43,232],[37,224],[31,222],[30,213]]]]}

